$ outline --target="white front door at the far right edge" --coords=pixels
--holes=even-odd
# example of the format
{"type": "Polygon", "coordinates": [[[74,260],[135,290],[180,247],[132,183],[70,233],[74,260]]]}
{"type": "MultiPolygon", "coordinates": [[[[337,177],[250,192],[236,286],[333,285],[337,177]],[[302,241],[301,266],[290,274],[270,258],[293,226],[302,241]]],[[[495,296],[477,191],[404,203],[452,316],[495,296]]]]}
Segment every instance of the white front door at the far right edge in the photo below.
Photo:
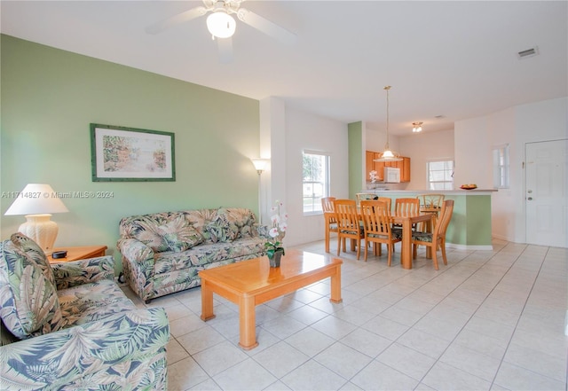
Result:
{"type": "Polygon", "coordinates": [[[525,146],[526,242],[568,247],[568,140],[525,146]]]}

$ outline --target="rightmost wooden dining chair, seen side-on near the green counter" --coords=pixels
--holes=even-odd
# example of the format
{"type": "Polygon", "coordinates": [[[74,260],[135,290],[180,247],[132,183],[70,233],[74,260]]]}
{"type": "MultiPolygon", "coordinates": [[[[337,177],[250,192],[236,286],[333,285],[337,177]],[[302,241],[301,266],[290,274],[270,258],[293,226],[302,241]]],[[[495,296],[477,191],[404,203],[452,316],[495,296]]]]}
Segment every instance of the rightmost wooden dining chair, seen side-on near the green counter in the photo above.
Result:
{"type": "Polygon", "coordinates": [[[417,246],[427,246],[430,247],[432,253],[432,261],[434,262],[434,269],[438,270],[438,246],[442,250],[442,259],[444,264],[447,265],[446,259],[446,231],[447,226],[452,220],[452,214],[454,213],[454,200],[446,199],[442,204],[442,210],[440,211],[440,217],[436,225],[434,226],[434,231],[432,232],[422,232],[414,231],[412,233],[412,245],[413,245],[413,258],[416,258],[417,246]]]}

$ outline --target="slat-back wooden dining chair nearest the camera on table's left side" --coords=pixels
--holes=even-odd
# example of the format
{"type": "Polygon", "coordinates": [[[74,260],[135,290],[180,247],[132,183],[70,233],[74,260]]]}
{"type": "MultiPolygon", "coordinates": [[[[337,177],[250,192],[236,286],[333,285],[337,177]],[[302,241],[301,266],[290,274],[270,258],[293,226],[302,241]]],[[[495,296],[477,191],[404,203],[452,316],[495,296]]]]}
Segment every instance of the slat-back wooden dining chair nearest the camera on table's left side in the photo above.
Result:
{"type": "Polygon", "coordinates": [[[390,207],[387,202],[381,200],[363,200],[360,208],[363,219],[365,234],[365,261],[367,262],[367,250],[373,243],[373,253],[381,255],[383,243],[387,246],[388,265],[392,259],[394,244],[402,240],[401,231],[392,231],[390,227],[390,207]]]}

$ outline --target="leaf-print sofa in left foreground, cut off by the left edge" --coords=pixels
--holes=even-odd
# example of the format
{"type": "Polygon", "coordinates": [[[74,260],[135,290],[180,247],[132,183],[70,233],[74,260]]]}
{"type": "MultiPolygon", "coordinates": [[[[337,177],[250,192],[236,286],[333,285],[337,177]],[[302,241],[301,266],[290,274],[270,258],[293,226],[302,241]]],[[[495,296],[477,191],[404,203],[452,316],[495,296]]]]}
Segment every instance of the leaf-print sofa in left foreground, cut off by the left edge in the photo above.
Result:
{"type": "Polygon", "coordinates": [[[164,309],[137,309],[112,256],[50,265],[28,237],[0,242],[0,389],[167,389],[164,309]]]}

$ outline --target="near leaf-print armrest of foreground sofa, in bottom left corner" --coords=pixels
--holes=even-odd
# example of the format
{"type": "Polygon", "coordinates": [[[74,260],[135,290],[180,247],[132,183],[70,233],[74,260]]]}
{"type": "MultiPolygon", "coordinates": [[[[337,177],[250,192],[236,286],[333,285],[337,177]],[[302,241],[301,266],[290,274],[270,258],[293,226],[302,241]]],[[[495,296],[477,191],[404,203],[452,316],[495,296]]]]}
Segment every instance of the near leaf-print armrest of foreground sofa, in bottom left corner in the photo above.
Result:
{"type": "Polygon", "coordinates": [[[135,309],[0,347],[0,389],[167,389],[170,326],[135,309]]]}

